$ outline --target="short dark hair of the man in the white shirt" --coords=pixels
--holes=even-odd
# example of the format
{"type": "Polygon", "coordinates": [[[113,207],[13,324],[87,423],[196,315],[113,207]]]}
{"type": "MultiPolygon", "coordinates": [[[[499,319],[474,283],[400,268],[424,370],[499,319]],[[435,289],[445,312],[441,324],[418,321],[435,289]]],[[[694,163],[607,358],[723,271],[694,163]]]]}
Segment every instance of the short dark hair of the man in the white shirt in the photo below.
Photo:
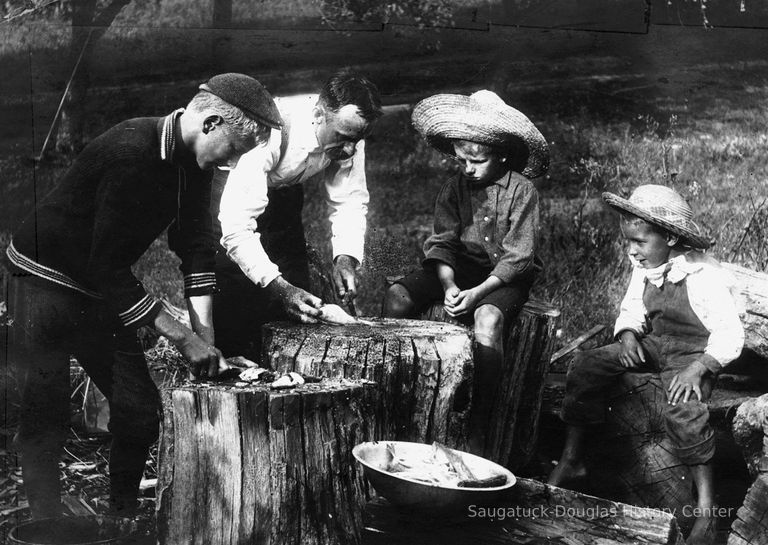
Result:
{"type": "Polygon", "coordinates": [[[381,96],[376,85],[348,68],[339,70],[325,82],[320,90],[320,101],[332,112],[354,104],[360,117],[369,122],[375,121],[382,113],[381,96]]]}

